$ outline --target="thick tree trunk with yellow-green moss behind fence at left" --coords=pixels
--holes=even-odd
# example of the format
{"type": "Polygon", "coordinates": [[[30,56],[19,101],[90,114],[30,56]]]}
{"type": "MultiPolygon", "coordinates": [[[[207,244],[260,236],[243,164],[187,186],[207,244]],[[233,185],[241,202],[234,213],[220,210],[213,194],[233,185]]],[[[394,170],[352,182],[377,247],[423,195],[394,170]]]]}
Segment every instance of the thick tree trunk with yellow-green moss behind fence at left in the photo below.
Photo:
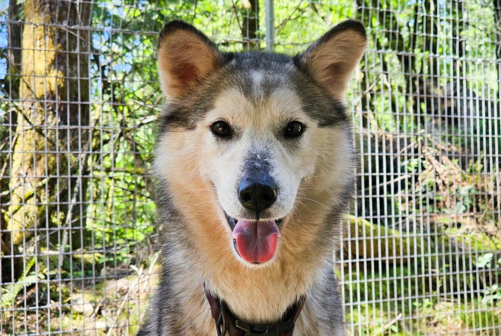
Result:
{"type": "MultiPolygon", "coordinates": [[[[90,26],[91,13],[90,3],[76,0],[25,2],[11,202],[2,237],[13,254],[62,249],[62,241],[75,249],[86,241],[87,183],[81,177],[88,156],[81,152],[90,141],[91,46],[89,31],[74,27],[90,26]]],[[[16,261],[13,266],[20,274],[16,261]]]]}

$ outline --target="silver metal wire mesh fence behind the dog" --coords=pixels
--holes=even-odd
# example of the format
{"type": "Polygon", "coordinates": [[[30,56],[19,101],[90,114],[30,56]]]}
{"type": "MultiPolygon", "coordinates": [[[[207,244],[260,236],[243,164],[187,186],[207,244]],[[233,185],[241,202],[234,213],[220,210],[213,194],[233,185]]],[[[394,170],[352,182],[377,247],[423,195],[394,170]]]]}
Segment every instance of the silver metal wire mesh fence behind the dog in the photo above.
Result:
{"type": "Polygon", "coordinates": [[[501,334],[498,0],[0,0],[0,333],[141,323],[155,47],[174,18],[225,50],[288,53],[363,22],[357,198],[335,253],[347,333],[501,334]]]}

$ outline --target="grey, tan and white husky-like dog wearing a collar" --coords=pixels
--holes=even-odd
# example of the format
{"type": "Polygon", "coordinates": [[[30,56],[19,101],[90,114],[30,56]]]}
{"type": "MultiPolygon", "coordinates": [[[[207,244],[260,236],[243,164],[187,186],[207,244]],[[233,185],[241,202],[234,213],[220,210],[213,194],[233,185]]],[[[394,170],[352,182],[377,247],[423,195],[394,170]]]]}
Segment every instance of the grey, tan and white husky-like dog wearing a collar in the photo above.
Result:
{"type": "Polygon", "coordinates": [[[138,334],[344,334],[333,274],[354,195],[345,92],[366,46],[345,21],[294,57],[159,35],[160,279],[138,334]]]}

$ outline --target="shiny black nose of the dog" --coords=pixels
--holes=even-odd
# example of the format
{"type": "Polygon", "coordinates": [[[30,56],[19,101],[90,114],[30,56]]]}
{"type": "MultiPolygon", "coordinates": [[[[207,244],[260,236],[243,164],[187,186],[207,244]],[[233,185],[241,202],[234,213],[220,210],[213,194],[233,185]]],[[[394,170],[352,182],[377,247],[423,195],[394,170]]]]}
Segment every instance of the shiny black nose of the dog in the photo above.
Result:
{"type": "Polygon", "coordinates": [[[238,198],[245,208],[259,214],[277,200],[277,185],[268,175],[260,179],[247,176],[238,185],[238,198]]]}

